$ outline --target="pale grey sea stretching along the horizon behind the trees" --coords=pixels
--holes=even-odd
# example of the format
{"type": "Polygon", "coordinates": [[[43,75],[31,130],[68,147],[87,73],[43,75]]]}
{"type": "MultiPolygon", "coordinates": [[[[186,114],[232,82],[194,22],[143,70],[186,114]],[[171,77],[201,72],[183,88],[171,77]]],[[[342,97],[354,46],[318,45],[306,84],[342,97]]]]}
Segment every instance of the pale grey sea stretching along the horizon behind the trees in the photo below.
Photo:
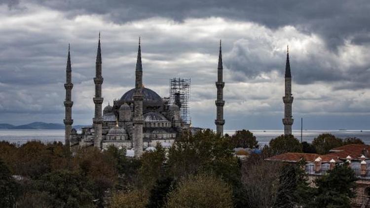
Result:
{"type": "MultiPolygon", "coordinates": [[[[268,142],[279,135],[284,134],[282,130],[250,130],[259,141],[259,146],[263,147],[268,142]]],[[[235,130],[226,130],[225,134],[232,135],[235,130]]],[[[338,138],[356,137],[362,139],[366,144],[370,144],[370,130],[304,130],[302,132],[302,141],[312,142],[312,140],[320,134],[329,133],[338,138]]],[[[297,139],[301,139],[300,130],[293,131],[293,135],[297,139]]],[[[17,145],[22,145],[27,141],[40,140],[42,142],[61,141],[64,143],[64,130],[0,130],[0,140],[9,141],[17,145]]]]}

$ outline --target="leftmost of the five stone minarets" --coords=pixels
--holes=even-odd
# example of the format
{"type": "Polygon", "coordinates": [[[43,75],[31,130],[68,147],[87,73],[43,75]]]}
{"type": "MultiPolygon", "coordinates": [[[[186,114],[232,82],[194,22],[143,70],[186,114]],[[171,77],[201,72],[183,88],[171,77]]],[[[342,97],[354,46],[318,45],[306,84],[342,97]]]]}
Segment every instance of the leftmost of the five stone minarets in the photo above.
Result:
{"type": "Polygon", "coordinates": [[[64,106],[66,107],[66,118],[63,120],[64,125],[66,126],[65,132],[65,144],[70,146],[70,135],[72,131],[72,68],[71,68],[71,54],[70,54],[70,45],[68,45],[68,58],[67,58],[67,69],[66,69],[66,83],[64,84],[66,88],[66,100],[64,101],[64,106]]]}

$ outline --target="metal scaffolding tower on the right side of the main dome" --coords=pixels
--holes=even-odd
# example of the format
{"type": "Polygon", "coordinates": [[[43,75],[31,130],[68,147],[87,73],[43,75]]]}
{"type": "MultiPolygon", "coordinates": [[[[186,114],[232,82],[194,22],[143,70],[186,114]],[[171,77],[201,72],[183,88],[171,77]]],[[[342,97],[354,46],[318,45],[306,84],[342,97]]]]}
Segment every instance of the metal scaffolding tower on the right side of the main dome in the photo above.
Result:
{"type": "Polygon", "coordinates": [[[190,79],[170,79],[170,104],[180,107],[180,116],[185,123],[190,123],[190,79]]]}

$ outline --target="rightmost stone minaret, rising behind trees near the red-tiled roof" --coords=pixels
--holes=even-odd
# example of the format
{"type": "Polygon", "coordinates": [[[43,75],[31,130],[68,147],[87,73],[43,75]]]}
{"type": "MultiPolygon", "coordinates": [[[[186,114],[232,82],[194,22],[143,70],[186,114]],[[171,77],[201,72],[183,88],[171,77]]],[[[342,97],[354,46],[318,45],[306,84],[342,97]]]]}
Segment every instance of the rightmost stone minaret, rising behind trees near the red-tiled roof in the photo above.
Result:
{"type": "Polygon", "coordinates": [[[283,97],[284,102],[284,135],[291,135],[292,134],[292,125],[293,125],[293,118],[292,118],[292,103],[293,103],[293,96],[292,96],[292,74],[291,74],[291,66],[289,63],[289,46],[287,46],[287,63],[285,66],[285,96],[283,97]]]}

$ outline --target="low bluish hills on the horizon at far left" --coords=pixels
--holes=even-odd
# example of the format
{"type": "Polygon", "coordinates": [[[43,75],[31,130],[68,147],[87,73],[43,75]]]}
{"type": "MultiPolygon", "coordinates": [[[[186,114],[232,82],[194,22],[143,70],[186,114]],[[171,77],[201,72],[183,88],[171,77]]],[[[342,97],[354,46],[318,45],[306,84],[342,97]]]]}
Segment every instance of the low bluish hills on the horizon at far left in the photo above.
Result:
{"type": "MultiPolygon", "coordinates": [[[[75,125],[73,128],[81,129],[84,125],[75,125]]],[[[64,124],[33,122],[29,124],[15,126],[12,124],[0,124],[0,129],[64,129],[64,124]]]]}

